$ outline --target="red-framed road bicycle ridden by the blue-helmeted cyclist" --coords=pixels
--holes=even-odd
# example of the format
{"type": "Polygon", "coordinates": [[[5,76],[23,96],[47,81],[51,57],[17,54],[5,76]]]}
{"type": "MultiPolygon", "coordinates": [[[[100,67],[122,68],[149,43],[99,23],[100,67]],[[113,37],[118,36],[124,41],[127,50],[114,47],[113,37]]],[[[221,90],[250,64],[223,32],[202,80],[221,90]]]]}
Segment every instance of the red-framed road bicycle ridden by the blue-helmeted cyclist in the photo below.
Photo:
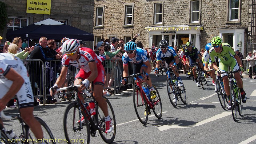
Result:
{"type": "Polygon", "coordinates": [[[145,89],[148,92],[145,92],[144,87],[142,87],[142,82],[145,82],[145,81],[139,78],[139,75],[141,74],[145,76],[144,70],[142,70],[142,73],[132,74],[127,77],[121,76],[121,79],[129,78],[129,77],[135,78],[135,82],[137,83],[137,86],[133,90],[133,105],[139,121],[142,124],[146,124],[148,120],[148,115],[151,114],[152,111],[155,114],[155,116],[158,119],[160,119],[162,117],[163,110],[162,110],[162,101],[157,88],[153,85],[154,89],[157,92],[156,93],[157,96],[155,99],[151,99],[149,86],[145,86],[145,89]],[[150,109],[152,109],[152,111],[150,109]]]}

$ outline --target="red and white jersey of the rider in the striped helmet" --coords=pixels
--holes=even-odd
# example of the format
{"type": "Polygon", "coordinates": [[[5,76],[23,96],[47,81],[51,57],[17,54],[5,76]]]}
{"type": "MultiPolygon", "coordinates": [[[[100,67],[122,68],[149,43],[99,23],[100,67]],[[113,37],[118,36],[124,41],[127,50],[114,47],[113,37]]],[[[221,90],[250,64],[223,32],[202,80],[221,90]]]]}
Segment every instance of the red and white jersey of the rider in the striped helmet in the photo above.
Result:
{"type": "Polygon", "coordinates": [[[79,59],[77,61],[70,61],[69,57],[65,54],[62,58],[62,66],[72,65],[79,69],[83,69],[86,73],[90,71],[89,62],[96,62],[97,67],[102,65],[101,58],[94,53],[94,51],[87,47],[79,48],[79,59]]]}

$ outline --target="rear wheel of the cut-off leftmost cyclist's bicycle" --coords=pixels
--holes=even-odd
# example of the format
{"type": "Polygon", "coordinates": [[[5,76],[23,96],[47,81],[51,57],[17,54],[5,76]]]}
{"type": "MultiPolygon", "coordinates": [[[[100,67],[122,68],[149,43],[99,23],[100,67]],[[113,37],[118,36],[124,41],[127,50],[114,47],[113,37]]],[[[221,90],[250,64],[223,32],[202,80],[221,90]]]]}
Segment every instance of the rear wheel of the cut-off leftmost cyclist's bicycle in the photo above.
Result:
{"type": "MultiPolygon", "coordinates": [[[[55,144],[55,138],[53,137],[53,134],[51,133],[51,130],[46,125],[46,123],[41,118],[35,117],[35,119],[40,123],[42,127],[44,142],[55,144]]],[[[37,141],[33,141],[37,138],[35,137],[34,133],[31,131],[30,128],[26,130],[26,139],[30,141],[26,143],[37,143],[37,141]]]]}

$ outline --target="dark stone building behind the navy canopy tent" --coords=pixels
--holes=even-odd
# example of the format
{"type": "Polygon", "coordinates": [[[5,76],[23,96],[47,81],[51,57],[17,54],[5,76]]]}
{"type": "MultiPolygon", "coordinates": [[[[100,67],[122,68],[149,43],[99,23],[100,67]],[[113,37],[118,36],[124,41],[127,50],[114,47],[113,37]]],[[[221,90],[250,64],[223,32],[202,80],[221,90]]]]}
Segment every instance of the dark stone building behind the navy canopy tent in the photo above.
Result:
{"type": "MultiPolygon", "coordinates": [[[[0,30],[0,35],[4,40],[7,31],[19,29],[48,18],[93,33],[94,2],[92,0],[41,0],[42,2],[51,2],[50,15],[27,13],[27,0],[1,1],[7,5],[8,15],[7,26],[4,30],[0,30]]],[[[38,43],[38,40],[30,43],[34,44],[36,42],[38,43]]],[[[93,42],[86,43],[87,47],[93,47],[93,42]]]]}

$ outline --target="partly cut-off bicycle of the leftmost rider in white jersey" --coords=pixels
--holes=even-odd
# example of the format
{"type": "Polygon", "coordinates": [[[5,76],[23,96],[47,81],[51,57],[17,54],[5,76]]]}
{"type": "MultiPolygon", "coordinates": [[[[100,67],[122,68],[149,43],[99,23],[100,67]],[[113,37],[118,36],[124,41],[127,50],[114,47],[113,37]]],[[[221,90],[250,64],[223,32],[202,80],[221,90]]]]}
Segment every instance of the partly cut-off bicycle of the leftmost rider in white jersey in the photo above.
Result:
{"type": "MultiPolygon", "coordinates": [[[[11,116],[11,115],[5,115],[3,111],[1,111],[1,118],[2,119],[16,119],[20,123],[20,135],[17,135],[13,138],[11,137],[8,132],[5,130],[3,125],[0,124],[0,129],[1,129],[1,142],[5,144],[13,144],[13,143],[38,143],[41,140],[37,141],[37,138],[35,137],[34,133],[31,131],[30,127],[24,122],[24,120],[21,117],[21,113],[18,113],[17,116],[11,116]]],[[[43,131],[43,141],[45,143],[52,143],[55,144],[55,138],[53,134],[51,133],[51,130],[49,127],[46,125],[46,123],[38,117],[35,117],[35,119],[40,123],[43,131]]]]}

